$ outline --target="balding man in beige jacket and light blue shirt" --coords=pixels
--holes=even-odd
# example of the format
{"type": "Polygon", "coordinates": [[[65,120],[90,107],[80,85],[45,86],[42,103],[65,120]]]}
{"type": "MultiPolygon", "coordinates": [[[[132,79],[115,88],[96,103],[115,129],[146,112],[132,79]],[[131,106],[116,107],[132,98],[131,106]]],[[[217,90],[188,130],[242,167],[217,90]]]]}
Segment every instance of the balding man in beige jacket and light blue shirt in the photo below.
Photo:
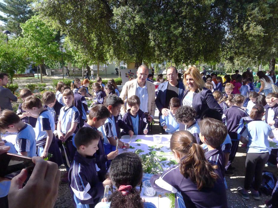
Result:
{"type": "MultiPolygon", "coordinates": [[[[148,75],[148,67],[141,65],[137,70],[137,79],[125,83],[120,97],[125,100],[132,95],[137,95],[140,98],[140,110],[148,114],[148,121],[151,122],[155,111],[155,86],[153,83],[146,81],[148,75]]],[[[126,108],[129,109],[129,106],[126,105],[126,108]]],[[[126,113],[126,108],[124,105],[122,106],[122,115],[126,113]]]]}

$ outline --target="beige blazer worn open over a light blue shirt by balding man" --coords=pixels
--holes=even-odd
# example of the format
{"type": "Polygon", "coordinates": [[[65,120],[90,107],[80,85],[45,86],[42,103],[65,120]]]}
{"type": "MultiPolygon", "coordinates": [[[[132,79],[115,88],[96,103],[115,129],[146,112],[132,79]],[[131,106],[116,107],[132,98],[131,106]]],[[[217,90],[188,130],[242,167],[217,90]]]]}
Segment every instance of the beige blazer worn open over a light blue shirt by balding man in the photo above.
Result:
{"type": "MultiPolygon", "coordinates": [[[[135,95],[136,92],[136,82],[137,79],[128,81],[124,84],[120,97],[122,100],[128,99],[132,95],[135,95]]],[[[148,91],[148,113],[149,115],[154,117],[155,111],[155,86],[153,83],[146,81],[147,83],[147,91],[148,91]]],[[[127,106],[128,107],[128,106],[127,106]]],[[[129,109],[129,107],[127,108],[129,109]]],[[[125,114],[126,110],[125,105],[121,107],[121,114],[125,114]]]]}

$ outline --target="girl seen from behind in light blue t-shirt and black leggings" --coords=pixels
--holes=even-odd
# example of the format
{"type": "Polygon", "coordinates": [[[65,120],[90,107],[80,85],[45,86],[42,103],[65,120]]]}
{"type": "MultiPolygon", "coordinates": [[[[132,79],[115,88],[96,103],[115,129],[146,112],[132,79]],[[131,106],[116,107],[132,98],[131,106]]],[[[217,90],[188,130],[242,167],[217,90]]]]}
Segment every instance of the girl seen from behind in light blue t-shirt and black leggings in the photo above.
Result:
{"type": "Polygon", "coordinates": [[[250,114],[250,117],[254,120],[244,126],[244,131],[240,135],[240,141],[243,144],[247,144],[244,187],[238,187],[237,189],[244,199],[249,199],[248,191],[252,184],[251,194],[254,199],[260,200],[258,190],[262,182],[263,167],[271,151],[268,136],[269,138],[274,138],[271,127],[262,121],[264,112],[265,109],[262,105],[255,105],[250,114]],[[247,136],[248,139],[246,139],[247,136]]]}

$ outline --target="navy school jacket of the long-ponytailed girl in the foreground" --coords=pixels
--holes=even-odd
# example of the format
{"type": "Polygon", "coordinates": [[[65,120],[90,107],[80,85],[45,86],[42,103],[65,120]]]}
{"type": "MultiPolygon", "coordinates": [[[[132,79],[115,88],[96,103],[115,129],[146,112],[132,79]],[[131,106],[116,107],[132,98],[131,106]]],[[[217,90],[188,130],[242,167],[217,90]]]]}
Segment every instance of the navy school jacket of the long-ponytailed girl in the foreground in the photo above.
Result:
{"type": "Polygon", "coordinates": [[[198,190],[197,185],[189,177],[184,177],[179,171],[179,166],[175,165],[161,176],[160,174],[152,176],[151,184],[158,192],[175,193],[175,207],[228,207],[221,175],[213,187],[198,190]]]}

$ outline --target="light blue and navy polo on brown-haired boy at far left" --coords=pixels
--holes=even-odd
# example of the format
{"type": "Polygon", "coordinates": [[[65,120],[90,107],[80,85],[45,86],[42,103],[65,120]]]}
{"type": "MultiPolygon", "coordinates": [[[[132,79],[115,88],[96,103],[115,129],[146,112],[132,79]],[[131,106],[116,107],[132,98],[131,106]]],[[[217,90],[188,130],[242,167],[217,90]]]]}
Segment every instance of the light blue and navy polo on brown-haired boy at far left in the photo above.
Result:
{"type": "MultiPolygon", "coordinates": [[[[27,152],[28,157],[35,157],[37,156],[37,146],[36,146],[36,134],[33,127],[29,124],[25,124],[22,127],[15,139],[15,149],[18,152],[27,152]]],[[[20,154],[19,154],[20,155],[20,154]]]]}

